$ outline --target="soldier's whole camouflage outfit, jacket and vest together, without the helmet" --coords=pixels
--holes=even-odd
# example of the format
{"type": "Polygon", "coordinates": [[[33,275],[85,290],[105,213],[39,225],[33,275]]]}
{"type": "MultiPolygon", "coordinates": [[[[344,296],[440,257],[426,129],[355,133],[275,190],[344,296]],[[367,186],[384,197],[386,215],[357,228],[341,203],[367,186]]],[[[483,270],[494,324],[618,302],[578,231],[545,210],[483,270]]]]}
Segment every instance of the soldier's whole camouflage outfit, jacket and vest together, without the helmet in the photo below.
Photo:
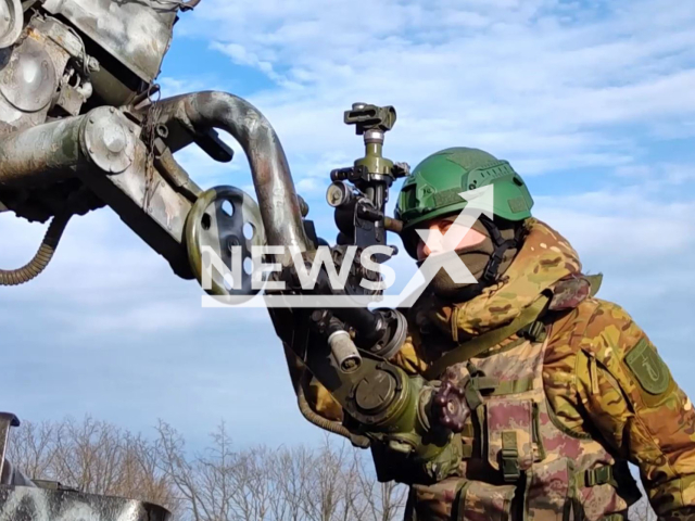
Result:
{"type": "MultiPolygon", "coordinates": [[[[430,296],[410,313],[409,341],[392,361],[432,378],[442,354],[549,298],[529,334],[446,369],[447,378],[472,378],[482,404],[465,428],[458,475],[414,485],[406,517],[624,519],[639,497],[630,461],[660,519],[690,519],[691,402],[630,316],[590,295],[567,241],[535,219],[526,226],[523,245],[498,283],[462,304],[430,296]]],[[[316,409],[339,418],[330,395],[315,391],[316,409]]]]}

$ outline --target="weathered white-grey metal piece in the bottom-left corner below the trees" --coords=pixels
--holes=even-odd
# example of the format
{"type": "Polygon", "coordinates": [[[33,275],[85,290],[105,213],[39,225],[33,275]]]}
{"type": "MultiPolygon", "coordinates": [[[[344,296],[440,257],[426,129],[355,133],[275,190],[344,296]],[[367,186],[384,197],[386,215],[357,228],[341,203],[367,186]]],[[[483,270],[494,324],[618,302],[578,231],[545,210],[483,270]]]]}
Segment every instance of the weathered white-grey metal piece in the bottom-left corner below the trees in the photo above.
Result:
{"type": "Polygon", "coordinates": [[[3,521],[166,521],[150,503],[26,486],[0,486],[3,521]]]}

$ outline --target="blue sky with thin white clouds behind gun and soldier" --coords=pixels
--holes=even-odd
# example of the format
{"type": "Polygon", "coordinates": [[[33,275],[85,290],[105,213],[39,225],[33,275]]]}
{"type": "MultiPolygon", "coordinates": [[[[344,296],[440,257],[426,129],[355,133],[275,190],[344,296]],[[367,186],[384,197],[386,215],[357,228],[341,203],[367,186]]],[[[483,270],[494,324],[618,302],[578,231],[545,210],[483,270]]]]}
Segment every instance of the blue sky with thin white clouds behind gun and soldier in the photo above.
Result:
{"type": "MultiPolygon", "coordinates": [[[[695,4],[672,0],[203,0],[161,84],[260,107],[329,239],[328,173],[362,152],[342,124],[354,101],[396,106],[395,161],[452,145],[509,160],[536,216],[605,274],[601,295],[695,395],[694,26],[695,4]]],[[[250,189],[242,153],[179,160],[203,187],[250,189]]],[[[42,231],[0,214],[0,266],[29,258],[42,231]]],[[[223,419],[244,445],[319,440],[265,312],[202,309],[200,295],[111,211],[76,219],[45,276],[0,292],[1,408],[144,432],[161,418],[193,444],[223,419]]]]}

